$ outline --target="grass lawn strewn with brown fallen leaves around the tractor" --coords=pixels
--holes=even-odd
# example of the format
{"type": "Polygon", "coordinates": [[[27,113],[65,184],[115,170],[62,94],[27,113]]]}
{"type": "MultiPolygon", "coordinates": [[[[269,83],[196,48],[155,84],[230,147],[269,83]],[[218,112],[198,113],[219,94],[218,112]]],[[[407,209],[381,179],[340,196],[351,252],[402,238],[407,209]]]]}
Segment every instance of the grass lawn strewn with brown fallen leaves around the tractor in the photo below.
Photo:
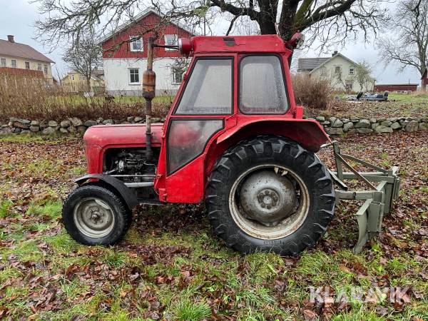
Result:
{"type": "Polygon", "coordinates": [[[81,138],[1,137],[0,319],[428,320],[425,136],[339,138],[347,153],[401,166],[400,198],[362,253],[350,250],[357,204],[341,203],[298,258],[238,255],[213,236],[202,205],[139,208],[118,245],[79,245],[60,213],[85,172],[81,138]],[[391,288],[406,289],[402,301],[391,288]]]}

